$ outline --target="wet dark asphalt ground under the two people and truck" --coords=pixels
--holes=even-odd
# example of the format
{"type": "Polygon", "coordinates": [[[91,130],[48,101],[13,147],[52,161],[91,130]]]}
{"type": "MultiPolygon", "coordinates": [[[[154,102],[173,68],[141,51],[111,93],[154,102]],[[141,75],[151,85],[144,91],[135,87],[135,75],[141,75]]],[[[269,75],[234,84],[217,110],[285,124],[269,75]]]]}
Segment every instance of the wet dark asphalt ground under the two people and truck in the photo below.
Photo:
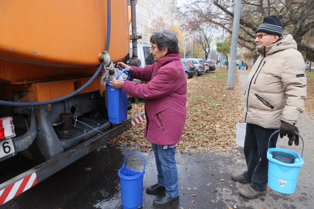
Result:
{"type": "MultiPolygon", "coordinates": [[[[240,72],[245,77],[248,71],[240,72]]],[[[156,195],[146,194],[145,188],[157,182],[157,170],[154,154],[151,151],[138,152],[146,161],[143,178],[143,209],[150,208],[313,208],[313,160],[314,141],[313,120],[301,114],[299,130],[306,141],[303,154],[305,165],[301,167],[296,192],[291,195],[268,191],[266,196],[256,199],[246,199],[239,196],[239,190],[248,186],[231,179],[233,172],[243,172],[246,169],[243,148],[234,147],[231,152],[194,151],[176,154],[180,202],[165,207],[153,206],[156,195]],[[238,154],[237,154],[238,153],[238,154]],[[191,188],[190,190],[188,188],[191,188]],[[195,189],[194,189],[195,188],[195,189]],[[196,196],[192,196],[195,194],[196,196]]],[[[292,149],[300,153],[301,147],[288,147],[288,139],[278,140],[278,147],[292,149]]],[[[122,167],[126,156],[134,151],[130,147],[106,147],[94,151],[79,159],[65,169],[35,185],[28,191],[8,201],[0,209],[28,208],[122,208],[120,181],[118,170],[122,167]],[[87,169],[86,168],[90,168],[87,169]]],[[[135,151],[136,152],[136,151],[135,151]]],[[[15,165],[26,165],[26,159],[16,158],[15,165]]],[[[143,160],[140,157],[130,157],[128,167],[141,171],[143,160]]],[[[31,163],[31,162],[28,162],[31,163]]],[[[7,165],[10,167],[10,165],[7,165]]],[[[3,171],[0,171],[0,174],[3,171]]],[[[1,175],[6,177],[5,175],[1,175]]],[[[7,177],[8,178],[8,177],[7,177]]]]}

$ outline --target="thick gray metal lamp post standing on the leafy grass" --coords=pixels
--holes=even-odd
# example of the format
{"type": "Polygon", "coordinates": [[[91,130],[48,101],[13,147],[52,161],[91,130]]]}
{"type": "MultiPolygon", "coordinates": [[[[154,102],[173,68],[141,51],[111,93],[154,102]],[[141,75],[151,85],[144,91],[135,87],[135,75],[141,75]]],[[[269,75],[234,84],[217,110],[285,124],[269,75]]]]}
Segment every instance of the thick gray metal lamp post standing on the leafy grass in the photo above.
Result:
{"type": "Polygon", "coordinates": [[[236,49],[238,45],[239,24],[241,14],[241,0],[236,0],[235,13],[233,17],[232,38],[230,47],[230,67],[228,70],[227,90],[233,90],[236,69],[236,49]]]}

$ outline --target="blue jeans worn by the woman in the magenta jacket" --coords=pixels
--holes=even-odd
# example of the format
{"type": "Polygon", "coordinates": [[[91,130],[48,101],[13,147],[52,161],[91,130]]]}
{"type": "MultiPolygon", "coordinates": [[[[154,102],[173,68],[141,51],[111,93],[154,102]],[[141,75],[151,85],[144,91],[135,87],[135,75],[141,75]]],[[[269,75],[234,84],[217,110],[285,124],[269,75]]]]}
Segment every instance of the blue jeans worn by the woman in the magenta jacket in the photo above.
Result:
{"type": "Polygon", "coordinates": [[[157,166],[158,185],[165,186],[166,195],[169,197],[179,196],[178,170],[176,167],[176,147],[163,149],[152,144],[157,166]]]}

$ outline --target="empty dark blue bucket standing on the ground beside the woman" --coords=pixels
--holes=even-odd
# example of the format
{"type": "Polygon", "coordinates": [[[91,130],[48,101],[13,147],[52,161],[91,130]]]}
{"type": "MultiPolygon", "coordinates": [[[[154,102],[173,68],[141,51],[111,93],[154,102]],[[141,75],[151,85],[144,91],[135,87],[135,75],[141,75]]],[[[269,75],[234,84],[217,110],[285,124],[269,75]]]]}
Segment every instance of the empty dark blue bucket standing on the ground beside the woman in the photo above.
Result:
{"type": "MultiPolygon", "coordinates": [[[[131,153],[138,154],[138,153],[131,153]]],[[[131,155],[129,154],[127,158],[131,155]]],[[[143,176],[145,173],[145,160],[142,172],[136,172],[125,166],[127,158],[124,160],[122,168],[119,170],[121,186],[121,200],[123,209],[137,209],[143,206],[143,176]]]]}

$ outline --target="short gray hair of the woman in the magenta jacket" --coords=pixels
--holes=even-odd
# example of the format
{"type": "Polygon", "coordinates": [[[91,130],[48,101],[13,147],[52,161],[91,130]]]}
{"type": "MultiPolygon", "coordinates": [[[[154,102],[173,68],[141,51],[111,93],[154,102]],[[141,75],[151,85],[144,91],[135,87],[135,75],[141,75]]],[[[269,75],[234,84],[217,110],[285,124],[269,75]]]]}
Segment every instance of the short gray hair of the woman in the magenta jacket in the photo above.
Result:
{"type": "Polygon", "coordinates": [[[179,51],[176,35],[168,29],[153,32],[150,36],[150,43],[157,44],[158,50],[168,48],[166,55],[179,51]]]}

